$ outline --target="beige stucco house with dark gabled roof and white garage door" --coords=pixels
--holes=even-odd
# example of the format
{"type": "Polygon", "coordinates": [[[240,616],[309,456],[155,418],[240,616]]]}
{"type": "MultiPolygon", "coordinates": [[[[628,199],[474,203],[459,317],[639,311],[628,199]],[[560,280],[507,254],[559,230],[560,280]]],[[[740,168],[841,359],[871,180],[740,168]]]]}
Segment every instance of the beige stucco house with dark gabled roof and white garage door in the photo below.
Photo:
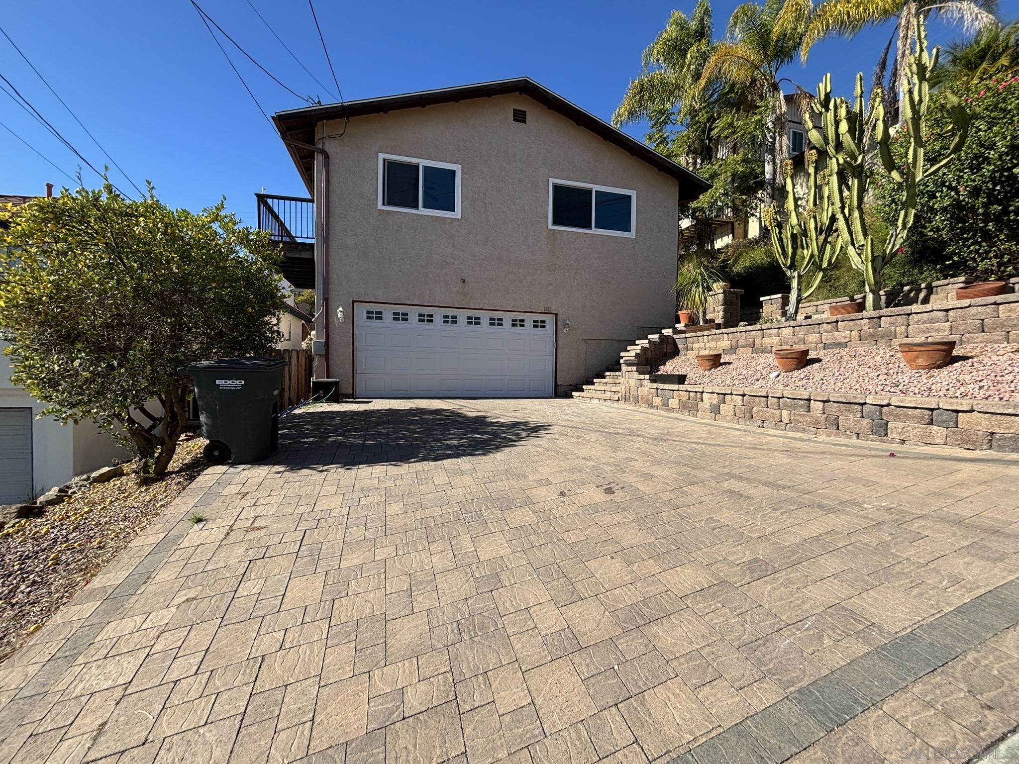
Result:
{"type": "Polygon", "coordinates": [[[341,394],[550,396],[674,323],[679,205],[708,183],[534,80],[274,121],[316,214],[316,376],[341,394]]]}

